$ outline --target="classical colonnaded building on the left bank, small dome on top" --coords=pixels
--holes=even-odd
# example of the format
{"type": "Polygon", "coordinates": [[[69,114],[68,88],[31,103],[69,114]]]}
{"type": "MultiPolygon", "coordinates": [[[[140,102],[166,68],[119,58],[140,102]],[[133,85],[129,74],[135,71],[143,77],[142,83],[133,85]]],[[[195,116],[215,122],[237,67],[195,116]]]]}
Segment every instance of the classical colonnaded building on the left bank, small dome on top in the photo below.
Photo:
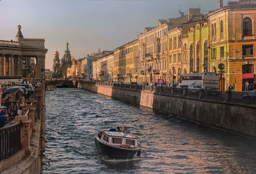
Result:
{"type": "Polygon", "coordinates": [[[44,39],[24,38],[18,25],[15,41],[0,41],[0,75],[41,78],[47,53],[44,42],[44,39]]]}

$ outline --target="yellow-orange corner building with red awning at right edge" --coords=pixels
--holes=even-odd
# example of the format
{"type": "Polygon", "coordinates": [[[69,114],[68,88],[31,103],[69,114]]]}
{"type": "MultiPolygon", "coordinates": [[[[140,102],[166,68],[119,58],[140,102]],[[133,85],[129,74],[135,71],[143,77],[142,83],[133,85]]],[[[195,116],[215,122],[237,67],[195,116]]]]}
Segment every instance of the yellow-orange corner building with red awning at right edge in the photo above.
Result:
{"type": "Polygon", "coordinates": [[[255,83],[256,66],[256,2],[230,1],[207,15],[209,21],[209,48],[211,70],[224,64],[225,89],[236,85],[236,91],[244,90],[244,83],[255,83]]]}

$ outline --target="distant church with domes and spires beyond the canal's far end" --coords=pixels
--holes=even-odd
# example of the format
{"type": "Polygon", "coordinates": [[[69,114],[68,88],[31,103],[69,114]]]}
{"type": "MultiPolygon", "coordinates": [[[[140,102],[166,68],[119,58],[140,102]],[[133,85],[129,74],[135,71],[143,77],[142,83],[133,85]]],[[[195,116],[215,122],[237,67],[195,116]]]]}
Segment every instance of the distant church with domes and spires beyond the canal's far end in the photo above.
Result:
{"type": "Polygon", "coordinates": [[[67,77],[67,69],[72,66],[71,54],[70,50],[68,49],[68,42],[67,42],[67,49],[60,61],[60,54],[58,51],[54,52],[54,59],[52,65],[52,76],[54,78],[66,78],[67,77]]]}

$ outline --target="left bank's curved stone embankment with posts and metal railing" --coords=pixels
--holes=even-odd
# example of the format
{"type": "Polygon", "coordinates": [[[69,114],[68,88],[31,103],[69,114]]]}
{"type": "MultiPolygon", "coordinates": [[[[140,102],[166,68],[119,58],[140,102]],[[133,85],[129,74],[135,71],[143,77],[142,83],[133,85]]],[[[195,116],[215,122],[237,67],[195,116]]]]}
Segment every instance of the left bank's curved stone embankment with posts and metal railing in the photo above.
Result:
{"type": "Polygon", "coordinates": [[[28,105],[17,112],[16,94],[8,94],[2,106],[7,106],[12,122],[0,129],[0,173],[41,173],[45,151],[45,87],[38,87],[26,99],[28,105]]]}

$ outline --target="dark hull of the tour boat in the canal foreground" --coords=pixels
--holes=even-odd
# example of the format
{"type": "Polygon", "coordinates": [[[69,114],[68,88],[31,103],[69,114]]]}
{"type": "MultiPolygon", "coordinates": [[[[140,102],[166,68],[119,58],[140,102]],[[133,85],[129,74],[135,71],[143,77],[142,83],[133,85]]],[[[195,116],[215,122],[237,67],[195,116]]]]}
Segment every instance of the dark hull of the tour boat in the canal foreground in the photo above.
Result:
{"type": "Polygon", "coordinates": [[[100,142],[95,136],[95,146],[100,154],[103,156],[109,157],[109,159],[132,159],[134,156],[138,156],[140,154],[140,149],[119,149],[116,147],[111,147],[100,142]]]}

